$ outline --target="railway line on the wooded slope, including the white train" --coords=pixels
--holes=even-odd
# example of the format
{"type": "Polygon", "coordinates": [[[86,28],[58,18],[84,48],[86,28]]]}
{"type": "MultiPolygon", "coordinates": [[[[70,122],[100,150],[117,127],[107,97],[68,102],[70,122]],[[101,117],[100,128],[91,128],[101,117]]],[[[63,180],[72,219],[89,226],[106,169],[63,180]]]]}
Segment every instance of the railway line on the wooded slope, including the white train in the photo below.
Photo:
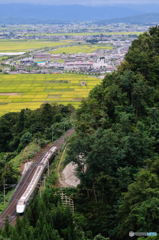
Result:
{"type": "Polygon", "coordinates": [[[56,140],[52,145],[49,145],[45,152],[39,154],[36,161],[26,171],[22,179],[20,180],[17,188],[13,194],[13,197],[5,209],[0,215],[0,227],[4,226],[5,219],[8,217],[10,223],[16,221],[17,212],[24,212],[26,205],[34,192],[40,177],[42,176],[49,159],[59,151],[62,145],[65,143],[66,138],[73,134],[74,130],[68,130],[62,137],[56,140]],[[31,190],[30,190],[31,189],[31,190]],[[25,198],[25,199],[24,199],[25,198]]]}

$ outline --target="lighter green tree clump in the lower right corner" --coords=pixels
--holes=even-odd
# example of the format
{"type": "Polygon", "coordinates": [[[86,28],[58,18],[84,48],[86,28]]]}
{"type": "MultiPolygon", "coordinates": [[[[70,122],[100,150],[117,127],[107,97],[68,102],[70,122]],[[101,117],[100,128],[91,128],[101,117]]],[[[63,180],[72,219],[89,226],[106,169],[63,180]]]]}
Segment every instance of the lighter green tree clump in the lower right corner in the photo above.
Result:
{"type": "Polygon", "coordinates": [[[159,178],[150,170],[141,170],[128,187],[119,206],[119,235],[134,232],[158,232],[159,178]]]}

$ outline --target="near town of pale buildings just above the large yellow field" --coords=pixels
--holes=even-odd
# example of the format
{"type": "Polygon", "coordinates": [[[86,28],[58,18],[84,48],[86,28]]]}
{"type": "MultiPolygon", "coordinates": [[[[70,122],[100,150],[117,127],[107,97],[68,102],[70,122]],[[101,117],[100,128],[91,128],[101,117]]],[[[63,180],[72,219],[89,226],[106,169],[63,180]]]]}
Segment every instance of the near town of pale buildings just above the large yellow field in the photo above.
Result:
{"type": "MultiPolygon", "coordinates": [[[[102,41],[98,44],[104,45],[102,41]]],[[[114,71],[123,61],[131,45],[131,39],[110,42],[112,49],[100,49],[92,53],[54,54],[34,51],[29,55],[21,55],[18,59],[4,61],[4,72],[7,73],[54,73],[80,72],[89,74],[105,74],[114,71]],[[11,67],[11,70],[9,69],[11,67]]]]}

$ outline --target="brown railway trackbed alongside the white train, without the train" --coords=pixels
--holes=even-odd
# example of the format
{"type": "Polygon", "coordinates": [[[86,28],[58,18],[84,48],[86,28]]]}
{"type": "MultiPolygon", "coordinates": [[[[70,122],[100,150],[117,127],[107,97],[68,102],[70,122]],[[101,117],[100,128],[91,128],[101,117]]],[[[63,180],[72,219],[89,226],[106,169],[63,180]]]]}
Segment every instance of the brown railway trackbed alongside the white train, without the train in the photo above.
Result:
{"type": "Polygon", "coordinates": [[[25,190],[27,189],[28,184],[32,180],[32,177],[38,167],[38,164],[40,164],[43,156],[49,151],[49,149],[53,146],[57,147],[58,151],[61,149],[62,145],[65,143],[66,138],[71,136],[73,134],[74,130],[70,129],[68,130],[62,137],[60,137],[58,140],[56,140],[53,144],[47,145],[41,152],[39,152],[35,158],[34,162],[32,163],[31,167],[26,171],[22,179],[20,180],[19,184],[16,187],[16,190],[13,194],[13,197],[8,205],[8,207],[5,209],[5,211],[0,215],[0,227],[4,226],[4,221],[6,217],[8,217],[8,220],[10,223],[14,223],[16,221],[16,204],[20,197],[23,195],[25,190]]]}

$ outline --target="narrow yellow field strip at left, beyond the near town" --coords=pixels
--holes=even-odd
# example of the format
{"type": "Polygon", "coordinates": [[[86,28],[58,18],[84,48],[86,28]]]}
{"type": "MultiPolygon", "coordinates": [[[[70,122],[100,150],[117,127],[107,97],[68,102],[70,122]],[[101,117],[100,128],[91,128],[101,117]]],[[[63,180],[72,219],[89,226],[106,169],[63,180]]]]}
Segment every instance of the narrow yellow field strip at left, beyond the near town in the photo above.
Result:
{"type": "Polygon", "coordinates": [[[38,48],[58,47],[70,41],[52,42],[49,40],[0,40],[0,52],[26,52],[38,48]]]}

